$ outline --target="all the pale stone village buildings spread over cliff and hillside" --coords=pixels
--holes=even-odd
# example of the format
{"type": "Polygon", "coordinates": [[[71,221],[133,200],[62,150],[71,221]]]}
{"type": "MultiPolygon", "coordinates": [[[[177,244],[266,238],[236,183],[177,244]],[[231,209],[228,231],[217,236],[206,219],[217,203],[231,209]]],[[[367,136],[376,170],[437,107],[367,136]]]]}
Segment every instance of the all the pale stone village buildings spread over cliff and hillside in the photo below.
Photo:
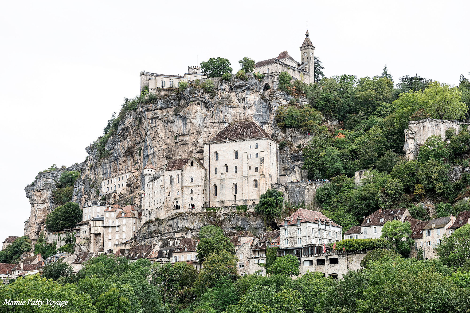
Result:
{"type": "MultiPolygon", "coordinates": [[[[260,93],[277,88],[281,71],[288,71],[293,79],[306,83],[313,81],[314,48],[308,31],[300,47],[300,60],[295,61],[287,51],[277,57],[256,63],[256,71],[265,75],[261,82],[260,93]]],[[[141,89],[149,87],[154,93],[158,88],[178,86],[181,81],[204,79],[207,76],[199,67],[190,66],[182,76],[141,72],[141,89]]],[[[407,160],[415,159],[419,147],[431,135],[445,138],[446,130],[454,128],[456,133],[461,127],[468,128],[469,122],[425,119],[410,121],[405,130],[407,160]]],[[[40,273],[42,266],[62,260],[71,264],[77,272],[84,263],[99,254],[125,256],[131,261],[148,258],[152,263],[188,262],[201,268],[197,260],[199,226],[186,227],[172,231],[162,231],[157,237],[141,240],[139,230],[151,220],[165,220],[180,212],[200,213],[208,208],[217,208],[219,214],[237,212],[237,207],[246,206],[248,212],[254,211],[259,196],[268,188],[284,193],[285,201],[294,204],[314,203],[316,188],[322,182],[296,182],[295,176],[280,174],[281,157],[278,143],[254,120],[237,120],[229,123],[210,140],[204,142],[203,159],[187,156],[167,161],[156,168],[149,158],[141,173],[128,168],[113,172],[103,168],[100,200],[86,201],[82,207],[82,221],[74,228],[77,244],[75,254],[58,253],[43,259],[40,255],[28,256],[19,264],[0,264],[0,278],[3,283],[8,279],[27,274],[40,273]],[[121,207],[116,202],[125,194],[131,181],[137,175],[143,176],[140,191],[140,205],[121,207]],[[101,200],[101,197],[104,197],[101,200]]],[[[470,168],[456,169],[456,176],[470,168]]],[[[368,170],[356,172],[356,186],[367,184],[368,170]]],[[[222,215],[220,215],[222,216],[222,215]]],[[[411,224],[415,241],[410,257],[416,257],[423,248],[423,258],[434,258],[436,247],[443,235],[450,235],[455,229],[470,223],[470,211],[460,212],[431,221],[413,219],[407,209],[379,210],[364,217],[360,226],[351,227],[342,233],[342,227],[328,219],[320,211],[298,209],[280,222],[279,229],[262,231],[254,235],[251,231],[228,231],[235,245],[238,258],[237,272],[244,274],[266,274],[266,249],[275,248],[278,255],[291,254],[298,257],[300,273],[307,270],[320,271],[325,276],[341,277],[348,270],[360,268],[364,253],[331,251],[334,242],[352,238],[378,238],[382,227],[389,220],[398,219],[411,224]]],[[[61,233],[45,230],[47,242],[57,241],[57,247],[64,244],[61,233]]],[[[14,241],[8,237],[3,249],[14,241]]]]}

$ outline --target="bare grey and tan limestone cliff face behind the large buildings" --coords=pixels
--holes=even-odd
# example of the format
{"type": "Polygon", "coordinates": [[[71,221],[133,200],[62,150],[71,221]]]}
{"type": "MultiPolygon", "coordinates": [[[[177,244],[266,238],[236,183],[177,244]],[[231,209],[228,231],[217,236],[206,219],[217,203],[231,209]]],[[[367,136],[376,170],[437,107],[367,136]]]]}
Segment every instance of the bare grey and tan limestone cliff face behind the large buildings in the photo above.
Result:
{"type": "MultiPolygon", "coordinates": [[[[157,170],[172,158],[203,159],[203,142],[235,120],[253,119],[275,140],[284,140],[285,131],[276,126],[274,112],[291,97],[277,92],[260,94],[259,81],[252,74],[248,78],[248,81],[234,78],[230,83],[211,78],[215,86],[213,93],[196,86],[188,87],[184,93],[177,89],[158,89],[157,100],[139,105],[120,122],[116,134],[106,143],[109,157],[99,159],[96,144],[86,148],[89,157],[77,165],[81,177],[75,184],[72,201],[83,205],[98,198],[103,177],[135,169],[138,174],[127,181],[127,191],[120,195],[118,203],[141,206],[141,170],[149,158],[157,170]]],[[[301,168],[299,161],[290,160],[289,155],[283,155],[282,160],[281,173],[288,175],[301,168]]],[[[41,173],[25,188],[31,203],[25,234],[32,239],[37,238],[47,213],[54,208],[52,190],[62,172],[41,173]]]]}

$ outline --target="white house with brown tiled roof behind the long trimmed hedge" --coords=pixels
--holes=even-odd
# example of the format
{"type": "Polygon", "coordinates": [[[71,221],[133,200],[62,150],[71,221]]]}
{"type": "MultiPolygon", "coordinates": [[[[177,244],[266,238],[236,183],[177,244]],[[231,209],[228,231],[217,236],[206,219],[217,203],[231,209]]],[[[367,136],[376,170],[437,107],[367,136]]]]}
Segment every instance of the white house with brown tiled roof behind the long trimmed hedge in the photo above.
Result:
{"type": "Polygon", "coordinates": [[[367,238],[380,238],[382,235],[382,228],[389,220],[399,220],[403,222],[407,216],[411,216],[408,209],[390,209],[390,210],[377,210],[369,216],[365,217],[362,221],[361,234],[359,239],[367,238]]]}

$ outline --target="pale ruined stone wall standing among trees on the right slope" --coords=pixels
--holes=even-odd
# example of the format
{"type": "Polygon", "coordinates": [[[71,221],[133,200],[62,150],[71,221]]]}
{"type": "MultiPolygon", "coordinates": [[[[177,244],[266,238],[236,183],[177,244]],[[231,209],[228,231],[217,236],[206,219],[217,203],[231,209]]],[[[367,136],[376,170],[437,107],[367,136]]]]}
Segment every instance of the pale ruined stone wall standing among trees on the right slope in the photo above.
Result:
{"type": "Polygon", "coordinates": [[[409,121],[408,129],[405,129],[405,145],[403,151],[406,152],[406,159],[414,160],[418,156],[419,147],[431,137],[431,135],[440,135],[444,140],[446,130],[455,129],[459,133],[461,127],[468,128],[470,123],[459,122],[457,120],[426,118],[420,121],[409,121]]]}

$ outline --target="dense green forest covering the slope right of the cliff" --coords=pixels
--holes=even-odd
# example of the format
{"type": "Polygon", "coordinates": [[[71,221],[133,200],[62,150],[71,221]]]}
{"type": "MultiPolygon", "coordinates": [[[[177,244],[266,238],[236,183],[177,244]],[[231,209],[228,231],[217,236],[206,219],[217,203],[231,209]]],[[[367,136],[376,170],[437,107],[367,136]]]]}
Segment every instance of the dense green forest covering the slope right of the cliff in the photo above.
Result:
{"type": "Polygon", "coordinates": [[[291,152],[305,158],[309,179],[331,181],[317,190],[316,199],[344,231],[379,208],[406,207],[413,217],[429,219],[422,206],[415,206],[425,199],[437,204],[437,216],[469,209],[466,201],[459,201],[469,192],[467,175],[457,182],[448,177],[452,165],[469,164],[467,129],[451,129],[445,138],[431,136],[417,160],[406,162],[402,151],[408,121],[470,117],[467,78],[449,86],[407,75],[395,87],[386,67],[373,78],[339,75],[309,85],[281,74],[280,89],[294,98],[276,111],[276,121],[310,134],[303,148],[289,142],[281,147],[292,147],[291,152]],[[301,96],[309,104],[302,105],[301,96]],[[354,172],[360,169],[369,175],[365,186],[355,188],[354,172]]]}

